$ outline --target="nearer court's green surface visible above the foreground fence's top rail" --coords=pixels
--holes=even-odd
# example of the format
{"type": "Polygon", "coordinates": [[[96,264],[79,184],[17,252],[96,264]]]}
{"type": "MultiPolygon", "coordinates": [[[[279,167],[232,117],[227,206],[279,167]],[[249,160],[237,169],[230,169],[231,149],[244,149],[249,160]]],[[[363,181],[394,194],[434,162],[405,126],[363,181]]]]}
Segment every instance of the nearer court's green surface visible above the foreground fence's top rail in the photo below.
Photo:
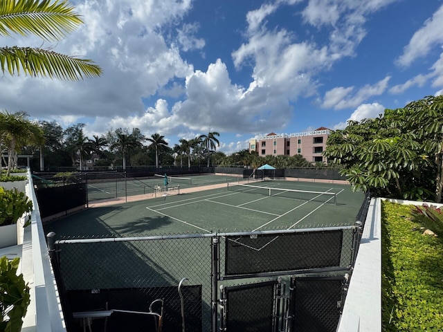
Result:
{"type": "MultiPolygon", "coordinates": [[[[188,187],[210,185],[216,180],[224,183],[229,181],[227,179],[226,176],[197,176],[188,187]]],[[[54,231],[60,239],[65,236],[141,237],[353,225],[364,199],[362,193],[351,192],[349,185],[334,183],[264,181],[251,185],[334,193],[336,204],[334,196],[329,194],[290,198],[283,191],[281,195],[277,192],[276,196],[269,196],[267,189],[243,188],[231,183],[231,190],[228,185],[214,190],[199,187],[197,192],[89,208],[46,224],[45,231],[54,231]],[[233,191],[237,189],[247,191],[233,191]]]]}

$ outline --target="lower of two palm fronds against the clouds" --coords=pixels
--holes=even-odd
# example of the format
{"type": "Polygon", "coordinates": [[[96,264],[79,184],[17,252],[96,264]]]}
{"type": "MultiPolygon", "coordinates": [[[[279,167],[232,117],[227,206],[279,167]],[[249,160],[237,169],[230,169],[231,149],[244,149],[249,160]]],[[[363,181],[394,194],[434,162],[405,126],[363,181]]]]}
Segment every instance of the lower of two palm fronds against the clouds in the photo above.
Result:
{"type": "Polygon", "coordinates": [[[98,77],[102,69],[89,59],[78,59],[51,50],[30,47],[0,48],[0,68],[3,73],[50,77],[60,80],[80,80],[84,77],[98,77]]]}

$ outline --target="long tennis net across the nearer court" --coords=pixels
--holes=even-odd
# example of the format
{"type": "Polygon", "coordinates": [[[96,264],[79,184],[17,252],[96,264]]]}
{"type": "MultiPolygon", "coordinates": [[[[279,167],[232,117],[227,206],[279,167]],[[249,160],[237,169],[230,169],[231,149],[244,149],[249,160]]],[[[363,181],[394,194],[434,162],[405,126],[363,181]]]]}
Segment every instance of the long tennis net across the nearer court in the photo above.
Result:
{"type": "Polygon", "coordinates": [[[260,187],[259,185],[244,185],[241,183],[228,183],[228,190],[246,192],[248,194],[299,199],[301,201],[318,201],[323,203],[334,203],[335,205],[337,204],[337,194],[334,192],[314,192],[310,190],[260,187]]]}

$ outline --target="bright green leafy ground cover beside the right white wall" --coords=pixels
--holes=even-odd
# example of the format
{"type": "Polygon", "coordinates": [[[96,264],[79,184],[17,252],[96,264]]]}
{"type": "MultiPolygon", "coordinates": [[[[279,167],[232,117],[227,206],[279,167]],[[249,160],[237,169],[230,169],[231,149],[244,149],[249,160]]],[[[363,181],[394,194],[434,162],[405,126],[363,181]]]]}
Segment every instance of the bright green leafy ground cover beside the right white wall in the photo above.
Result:
{"type": "Polygon", "coordinates": [[[443,239],[420,226],[410,205],[382,203],[383,331],[443,331],[443,239]]]}

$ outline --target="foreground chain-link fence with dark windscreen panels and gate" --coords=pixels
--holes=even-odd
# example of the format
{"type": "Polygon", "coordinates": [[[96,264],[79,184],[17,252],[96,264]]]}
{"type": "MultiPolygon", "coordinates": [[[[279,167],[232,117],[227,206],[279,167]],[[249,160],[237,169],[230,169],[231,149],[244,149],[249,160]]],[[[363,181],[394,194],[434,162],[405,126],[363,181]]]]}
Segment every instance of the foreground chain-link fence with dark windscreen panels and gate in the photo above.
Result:
{"type": "MultiPolygon", "coordinates": [[[[359,239],[357,224],[58,241],[51,234],[48,248],[68,331],[80,327],[73,313],[147,311],[147,303],[162,299],[163,331],[183,331],[184,315],[187,331],[244,331],[251,324],[254,331],[308,331],[300,326],[315,320],[334,332],[359,239]],[[183,280],[184,302],[177,293],[183,280]]],[[[91,324],[94,330],[102,323],[91,324]]]]}

